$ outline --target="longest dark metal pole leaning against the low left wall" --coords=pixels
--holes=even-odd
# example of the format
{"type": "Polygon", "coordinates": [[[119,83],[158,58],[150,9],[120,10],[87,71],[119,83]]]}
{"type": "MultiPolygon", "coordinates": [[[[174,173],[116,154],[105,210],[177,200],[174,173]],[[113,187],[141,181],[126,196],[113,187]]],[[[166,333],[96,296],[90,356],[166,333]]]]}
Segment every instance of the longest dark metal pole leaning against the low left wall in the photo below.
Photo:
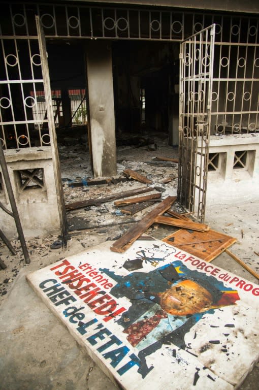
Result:
{"type": "Polygon", "coordinates": [[[10,201],[12,212],[13,212],[13,217],[14,217],[16,229],[17,229],[17,232],[19,235],[19,240],[21,243],[25,263],[29,264],[30,263],[29,254],[28,254],[26,242],[24,239],[21,221],[20,221],[19,213],[17,210],[15,198],[14,198],[13,188],[11,185],[11,181],[10,181],[10,177],[9,177],[9,173],[8,173],[8,169],[7,169],[7,165],[6,165],[6,159],[5,159],[4,151],[2,148],[2,142],[0,142],[0,165],[2,168],[2,173],[3,173],[4,180],[5,180],[5,185],[6,185],[9,201],[10,201]]]}

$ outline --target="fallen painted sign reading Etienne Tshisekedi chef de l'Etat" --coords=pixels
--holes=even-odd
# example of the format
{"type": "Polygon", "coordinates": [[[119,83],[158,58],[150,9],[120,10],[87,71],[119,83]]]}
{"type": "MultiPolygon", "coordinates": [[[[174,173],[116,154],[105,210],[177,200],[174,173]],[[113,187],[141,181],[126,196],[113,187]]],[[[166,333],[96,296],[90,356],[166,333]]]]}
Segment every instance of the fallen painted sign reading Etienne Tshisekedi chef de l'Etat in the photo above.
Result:
{"type": "Polygon", "coordinates": [[[120,387],[234,389],[258,360],[259,286],[159,240],[27,275],[120,387]]]}

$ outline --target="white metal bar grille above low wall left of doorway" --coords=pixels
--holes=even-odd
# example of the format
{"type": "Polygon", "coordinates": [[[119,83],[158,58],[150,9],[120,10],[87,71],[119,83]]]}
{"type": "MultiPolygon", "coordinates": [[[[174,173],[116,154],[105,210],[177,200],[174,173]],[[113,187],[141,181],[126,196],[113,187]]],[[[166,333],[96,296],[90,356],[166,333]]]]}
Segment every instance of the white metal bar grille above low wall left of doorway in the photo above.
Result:
{"type": "Polygon", "coordinates": [[[43,89],[36,41],[1,40],[0,139],[4,148],[49,145],[48,119],[41,118],[43,89]]]}

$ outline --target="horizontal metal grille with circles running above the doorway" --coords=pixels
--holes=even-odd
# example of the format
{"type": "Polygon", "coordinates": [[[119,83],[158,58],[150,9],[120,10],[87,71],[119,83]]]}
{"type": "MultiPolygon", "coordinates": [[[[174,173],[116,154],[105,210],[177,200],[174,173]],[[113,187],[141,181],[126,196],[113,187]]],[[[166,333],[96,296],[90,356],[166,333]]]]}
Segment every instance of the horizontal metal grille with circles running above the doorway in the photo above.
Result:
{"type": "Polygon", "coordinates": [[[36,38],[34,15],[39,15],[46,38],[102,38],[181,42],[215,24],[216,42],[259,44],[258,18],[178,10],[90,7],[87,5],[1,5],[1,35],[36,38]],[[230,33],[231,26],[231,33],[230,33]],[[244,31],[248,30],[248,37],[244,31]]]}

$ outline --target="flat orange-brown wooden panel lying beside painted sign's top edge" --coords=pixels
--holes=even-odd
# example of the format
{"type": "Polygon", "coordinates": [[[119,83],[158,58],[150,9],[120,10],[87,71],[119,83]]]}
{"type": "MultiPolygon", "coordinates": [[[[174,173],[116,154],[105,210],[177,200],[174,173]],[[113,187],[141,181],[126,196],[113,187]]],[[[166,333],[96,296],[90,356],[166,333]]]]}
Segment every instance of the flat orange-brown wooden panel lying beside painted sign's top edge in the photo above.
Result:
{"type": "Polygon", "coordinates": [[[212,229],[204,233],[189,232],[188,230],[181,229],[165,237],[162,241],[186,250],[207,262],[211,262],[226,248],[233,245],[237,239],[212,229]]]}

